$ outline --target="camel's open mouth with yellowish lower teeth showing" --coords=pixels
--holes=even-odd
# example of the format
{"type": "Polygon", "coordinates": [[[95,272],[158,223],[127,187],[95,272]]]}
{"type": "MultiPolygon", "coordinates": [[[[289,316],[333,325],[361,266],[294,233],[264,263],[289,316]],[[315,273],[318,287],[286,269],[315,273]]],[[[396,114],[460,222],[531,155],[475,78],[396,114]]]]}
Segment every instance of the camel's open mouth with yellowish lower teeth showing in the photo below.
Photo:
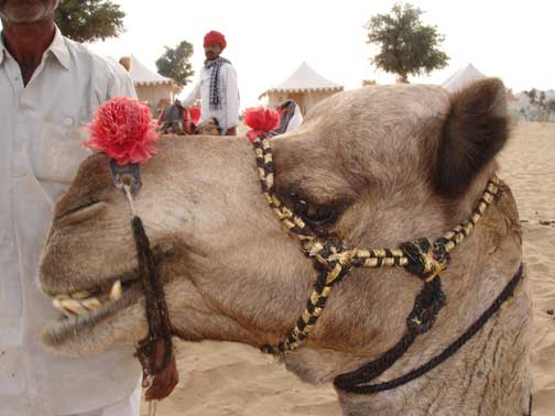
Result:
{"type": "Polygon", "coordinates": [[[43,341],[56,348],[83,336],[102,320],[112,317],[124,308],[135,304],[142,296],[139,280],[112,280],[109,286],[51,295],[54,308],[61,314],[57,320],[46,324],[43,341]]]}

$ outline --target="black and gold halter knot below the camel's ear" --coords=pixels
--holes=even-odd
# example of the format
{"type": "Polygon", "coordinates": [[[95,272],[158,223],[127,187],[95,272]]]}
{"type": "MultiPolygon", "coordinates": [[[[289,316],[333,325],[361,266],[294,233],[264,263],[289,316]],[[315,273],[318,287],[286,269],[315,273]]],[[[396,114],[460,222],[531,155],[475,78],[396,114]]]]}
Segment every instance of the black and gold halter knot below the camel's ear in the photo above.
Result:
{"type": "Polygon", "coordinates": [[[425,282],[432,282],[447,269],[450,256],[445,247],[439,242],[432,245],[428,239],[420,239],[401,245],[404,255],[409,259],[405,269],[422,277],[425,282]]]}

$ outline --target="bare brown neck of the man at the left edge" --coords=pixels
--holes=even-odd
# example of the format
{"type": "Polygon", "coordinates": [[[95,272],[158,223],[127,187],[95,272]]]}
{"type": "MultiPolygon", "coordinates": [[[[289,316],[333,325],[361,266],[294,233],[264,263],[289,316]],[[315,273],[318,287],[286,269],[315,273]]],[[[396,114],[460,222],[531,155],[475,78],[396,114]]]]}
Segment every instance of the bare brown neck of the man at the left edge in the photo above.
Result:
{"type": "Polygon", "coordinates": [[[33,24],[10,24],[2,21],[2,41],[18,62],[23,84],[26,85],[54,40],[56,33],[54,21],[46,20],[33,24]]]}

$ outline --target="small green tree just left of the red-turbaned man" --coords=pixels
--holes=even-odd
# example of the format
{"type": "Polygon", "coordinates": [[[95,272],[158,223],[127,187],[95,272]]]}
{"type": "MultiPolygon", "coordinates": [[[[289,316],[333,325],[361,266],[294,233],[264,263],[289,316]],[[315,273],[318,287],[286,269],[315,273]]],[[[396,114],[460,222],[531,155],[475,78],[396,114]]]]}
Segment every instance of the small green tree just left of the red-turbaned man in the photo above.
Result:
{"type": "Polygon", "coordinates": [[[183,41],[175,48],[164,47],[164,54],[156,61],[159,74],[172,78],[179,89],[183,89],[188,84],[189,77],[195,75],[189,63],[194,52],[193,45],[183,41]]]}

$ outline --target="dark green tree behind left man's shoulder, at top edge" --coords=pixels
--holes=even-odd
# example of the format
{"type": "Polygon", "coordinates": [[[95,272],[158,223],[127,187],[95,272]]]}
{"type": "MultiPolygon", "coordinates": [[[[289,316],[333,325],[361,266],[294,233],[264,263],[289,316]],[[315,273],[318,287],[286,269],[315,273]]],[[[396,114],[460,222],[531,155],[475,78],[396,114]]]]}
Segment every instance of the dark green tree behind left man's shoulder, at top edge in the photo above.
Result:
{"type": "Polygon", "coordinates": [[[54,12],[62,33],[77,42],[119,36],[124,17],[119,4],[109,0],[62,0],[54,12]]]}

